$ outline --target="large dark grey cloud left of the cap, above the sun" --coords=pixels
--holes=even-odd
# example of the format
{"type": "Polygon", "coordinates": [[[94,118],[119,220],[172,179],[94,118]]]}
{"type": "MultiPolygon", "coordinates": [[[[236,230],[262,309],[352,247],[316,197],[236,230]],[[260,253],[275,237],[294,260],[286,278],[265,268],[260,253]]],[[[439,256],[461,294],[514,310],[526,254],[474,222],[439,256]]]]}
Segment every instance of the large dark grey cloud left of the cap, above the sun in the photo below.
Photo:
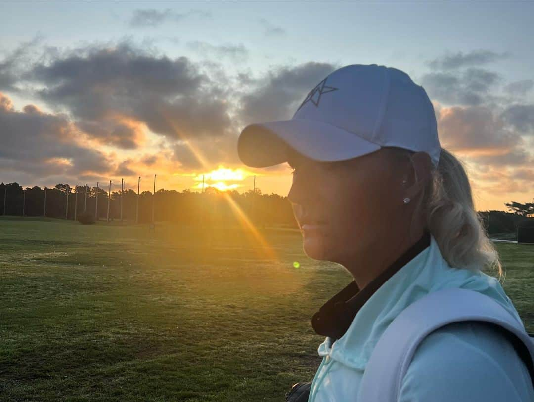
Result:
{"type": "Polygon", "coordinates": [[[157,57],[121,43],[38,64],[28,76],[44,86],[37,93],[42,100],[115,147],[139,147],[145,127],[181,140],[225,135],[230,127],[216,84],[185,57],[157,57]]]}

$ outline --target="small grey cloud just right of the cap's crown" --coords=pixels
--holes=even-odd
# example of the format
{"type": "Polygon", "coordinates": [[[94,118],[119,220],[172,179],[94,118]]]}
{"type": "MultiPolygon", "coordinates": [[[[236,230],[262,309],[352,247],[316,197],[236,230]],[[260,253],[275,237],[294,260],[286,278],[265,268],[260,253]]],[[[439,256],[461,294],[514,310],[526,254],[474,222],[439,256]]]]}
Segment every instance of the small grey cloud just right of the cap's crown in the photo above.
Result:
{"type": "Polygon", "coordinates": [[[421,85],[431,99],[446,104],[476,106],[494,101],[491,90],[502,80],[493,71],[468,68],[463,73],[435,72],[422,76],[421,85]]]}

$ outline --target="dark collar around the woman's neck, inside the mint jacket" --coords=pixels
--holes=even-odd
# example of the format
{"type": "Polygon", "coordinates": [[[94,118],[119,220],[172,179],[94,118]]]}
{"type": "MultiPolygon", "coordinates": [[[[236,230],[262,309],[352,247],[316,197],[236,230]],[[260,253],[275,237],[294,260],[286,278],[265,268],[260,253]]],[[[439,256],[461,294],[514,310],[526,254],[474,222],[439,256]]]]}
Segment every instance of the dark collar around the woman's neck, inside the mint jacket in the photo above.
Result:
{"type": "Polygon", "coordinates": [[[311,325],[315,332],[319,335],[331,337],[332,341],[343,336],[349,329],[356,313],[371,298],[374,292],[429,245],[430,232],[426,230],[417,243],[414,243],[404,254],[382,271],[379,276],[365,286],[362,291],[359,290],[358,285],[353,280],[313,315],[311,325]]]}

